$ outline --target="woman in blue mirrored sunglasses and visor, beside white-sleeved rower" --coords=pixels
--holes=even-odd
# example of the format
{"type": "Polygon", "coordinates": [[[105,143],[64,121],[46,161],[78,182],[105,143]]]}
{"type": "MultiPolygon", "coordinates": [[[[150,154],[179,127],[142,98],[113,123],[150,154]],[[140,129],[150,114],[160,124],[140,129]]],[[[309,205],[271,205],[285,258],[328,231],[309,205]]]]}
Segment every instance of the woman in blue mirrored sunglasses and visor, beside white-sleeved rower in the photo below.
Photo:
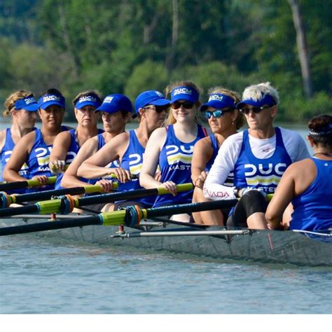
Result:
{"type": "MultiPolygon", "coordinates": [[[[193,161],[191,163],[191,179],[195,184],[193,202],[207,202],[202,191],[207,173],[209,172],[219,148],[223,141],[235,134],[244,125],[244,116],[236,108],[240,102],[236,92],[225,88],[213,88],[209,91],[209,101],[202,105],[200,111],[205,114],[212,130],[209,137],[200,139],[193,149],[193,161]]],[[[229,179],[233,186],[233,178],[229,179]]],[[[193,213],[195,223],[206,225],[223,225],[223,212],[214,210],[193,213]]]]}

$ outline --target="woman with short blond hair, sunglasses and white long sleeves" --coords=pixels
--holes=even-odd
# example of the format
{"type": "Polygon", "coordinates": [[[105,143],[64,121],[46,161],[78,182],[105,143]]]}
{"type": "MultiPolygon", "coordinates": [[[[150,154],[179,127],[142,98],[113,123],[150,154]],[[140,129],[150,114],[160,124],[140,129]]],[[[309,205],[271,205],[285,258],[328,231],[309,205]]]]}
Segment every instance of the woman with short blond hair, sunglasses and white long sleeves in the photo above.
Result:
{"type": "Polygon", "coordinates": [[[282,174],[292,162],[309,156],[299,134],[273,125],[278,104],[278,92],[270,83],[247,87],[237,109],[244,113],[249,129],[223,142],[207,175],[206,198],[240,198],[230,212],[227,226],[268,228],[265,195],[275,192],[282,174]],[[231,172],[234,186],[225,186],[231,172]]]}

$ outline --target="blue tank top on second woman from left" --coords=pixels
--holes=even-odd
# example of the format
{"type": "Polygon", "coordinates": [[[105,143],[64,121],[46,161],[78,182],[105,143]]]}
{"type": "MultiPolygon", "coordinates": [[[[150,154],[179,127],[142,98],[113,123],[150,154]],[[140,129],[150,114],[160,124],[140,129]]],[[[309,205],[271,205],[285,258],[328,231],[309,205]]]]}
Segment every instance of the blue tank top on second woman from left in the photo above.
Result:
{"type": "MultiPolygon", "coordinates": [[[[64,132],[68,128],[64,125],[61,126],[61,131],[64,132]]],[[[36,137],[34,139],[34,145],[29,153],[27,159],[27,165],[29,167],[29,178],[46,175],[46,177],[52,177],[48,162],[50,162],[50,151],[52,151],[53,145],[47,145],[43,139],[40,129],[35,130],[36,137]]],[[[54,185],[47,185],[44,188],[39,188],[39,191],[50,191],[54,189],[54,185]]],[[[34,190],[29,190],[34,191],[34,190]]]]}

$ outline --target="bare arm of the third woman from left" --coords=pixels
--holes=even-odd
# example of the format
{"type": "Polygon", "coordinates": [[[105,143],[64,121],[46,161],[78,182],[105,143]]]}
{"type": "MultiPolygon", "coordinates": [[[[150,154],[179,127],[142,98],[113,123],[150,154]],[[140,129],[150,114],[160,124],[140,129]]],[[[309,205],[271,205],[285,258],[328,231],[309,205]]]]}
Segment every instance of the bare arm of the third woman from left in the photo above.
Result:
{"type": "Polygon", "coordinates": [[[64,172],[66,164],[66,157],[69,146],[71,144],[71,137],[69,132],[60,132],[57,134],[53,142],[53,148],[50,152],[50,171],[57,174],[64,172]]]}

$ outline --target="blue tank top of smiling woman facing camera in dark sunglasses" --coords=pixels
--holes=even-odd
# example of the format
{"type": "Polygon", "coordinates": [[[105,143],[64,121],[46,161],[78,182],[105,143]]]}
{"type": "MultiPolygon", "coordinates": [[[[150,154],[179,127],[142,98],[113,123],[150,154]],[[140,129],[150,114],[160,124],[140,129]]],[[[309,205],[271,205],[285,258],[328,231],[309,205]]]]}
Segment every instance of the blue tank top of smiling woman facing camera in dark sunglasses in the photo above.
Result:
{"type": "MultiPolygon", "coordinates": [[[[191,159],[195,143],[207,136],[205,128],[198,125],[198,134],[190,143],[180,141],[174,133],[174,126],[167,128],[167,137],[159,155],[161,182],[173,181],[175,184],[191,183],[191,159]]],[[[193,191],[185,191],[172,195],[158,195],[153,207],[167,204],[186,204],[193,199],[193,191]]]]}

